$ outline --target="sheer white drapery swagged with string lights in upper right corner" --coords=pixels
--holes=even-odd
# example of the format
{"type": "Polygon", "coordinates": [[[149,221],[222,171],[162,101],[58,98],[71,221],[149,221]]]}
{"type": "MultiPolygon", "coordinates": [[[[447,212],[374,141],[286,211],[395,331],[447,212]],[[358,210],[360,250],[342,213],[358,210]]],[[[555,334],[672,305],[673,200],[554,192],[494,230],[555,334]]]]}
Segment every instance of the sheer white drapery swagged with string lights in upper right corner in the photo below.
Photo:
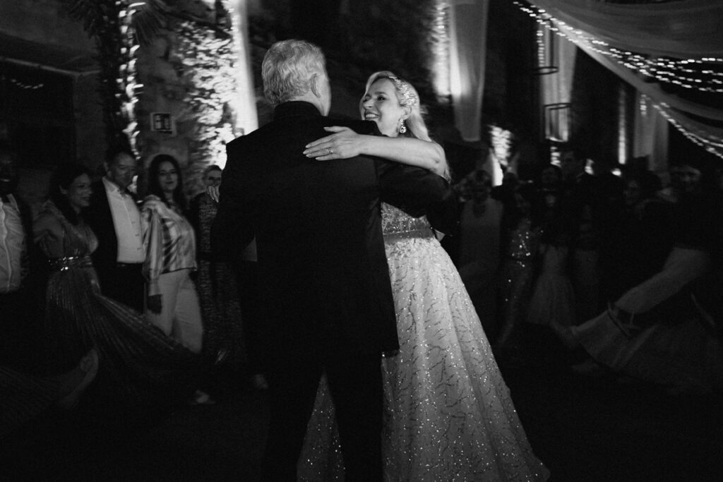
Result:
{"type": "MultiPolygon", "coordinates": [[[[716,28],[723,25],[723,3],[719,0],[683,0],[664,4],[621,5],[598,0],[531,0],[536,7],[554,17],[555,25],[578,45],[587,39],[604,40],[610,46],[652,57],[671,56],[677,59],[723,55],[723,34],[716,28]]],[[[723,111],[691,102],[662,90],[656,83],[645,82],[636,72],[591,48],[589,55],[645,95],[664,119],[698,145],[723,157],[723,132],[709,124],[694,120],[698,116],[723,121],[723,111]]],[[[639,155],[650,155],[660,162],[667,147],[659,116],[636,119],[635,146],[639,155]],[[643,121],[651,124],[644,125],[643,121]],[[651,132],[656,136],[650,137],[651,132]],[[646,138],[639,142],[638,137],[646,138]],[[655,142],[651,143],[651,139],[655,142]],[[648,152],[643,152],[647,146],[648,152]]]]}

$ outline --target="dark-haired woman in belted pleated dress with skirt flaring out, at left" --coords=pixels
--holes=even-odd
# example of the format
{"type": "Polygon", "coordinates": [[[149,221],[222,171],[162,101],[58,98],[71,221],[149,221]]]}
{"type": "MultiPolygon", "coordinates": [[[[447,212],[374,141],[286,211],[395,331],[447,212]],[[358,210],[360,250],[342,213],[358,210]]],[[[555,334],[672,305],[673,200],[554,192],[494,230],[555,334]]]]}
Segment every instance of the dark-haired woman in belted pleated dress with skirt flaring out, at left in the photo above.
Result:
{"type": "Polygon", "coordinates": [[[82,165],[61,165],[50,199],[33,223],[35,242],[48,259],[46,317],[48,363],[65,371],[95,346],[98,383],[114,402],[149,405],[183,400],[197,356],[128,306],[100,294],[90,254],[95,234],[82,220],[90,199],[82,165]]]}

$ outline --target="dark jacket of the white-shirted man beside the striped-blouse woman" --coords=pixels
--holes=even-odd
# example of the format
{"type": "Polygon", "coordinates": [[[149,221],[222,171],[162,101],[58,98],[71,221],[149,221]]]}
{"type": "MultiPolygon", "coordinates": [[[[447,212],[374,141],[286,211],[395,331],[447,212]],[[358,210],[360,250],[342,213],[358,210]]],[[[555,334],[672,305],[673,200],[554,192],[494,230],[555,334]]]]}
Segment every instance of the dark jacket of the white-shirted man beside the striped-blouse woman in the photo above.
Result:
{"type": "Polygon", "coordinates": [[[111,285],[114,283],[112,276],[118,261],[118,237],[106,186],[102,179],[93,183],[90,205],[85,208],[82,215],[98,238],[98,249],[95,249],[92,257],[100,286],[111,285]]]}

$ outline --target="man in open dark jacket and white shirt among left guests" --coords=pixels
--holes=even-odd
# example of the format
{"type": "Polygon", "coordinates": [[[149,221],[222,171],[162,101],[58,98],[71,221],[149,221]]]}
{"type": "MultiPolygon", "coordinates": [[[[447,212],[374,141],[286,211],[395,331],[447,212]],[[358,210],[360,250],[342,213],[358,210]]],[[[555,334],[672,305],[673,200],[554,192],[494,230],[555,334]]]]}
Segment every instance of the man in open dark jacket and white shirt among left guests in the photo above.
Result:
{"type": "Polygon", "coordinates": [[[123,147],[111,148],[106,156],[106,176],[93,183],[90,206],[83,216],[98,236],[93,266],[100,290],[136,311],[143,311],[145,251],[140,212],[128,190],[136,173],[136,160],[123,147]]]}

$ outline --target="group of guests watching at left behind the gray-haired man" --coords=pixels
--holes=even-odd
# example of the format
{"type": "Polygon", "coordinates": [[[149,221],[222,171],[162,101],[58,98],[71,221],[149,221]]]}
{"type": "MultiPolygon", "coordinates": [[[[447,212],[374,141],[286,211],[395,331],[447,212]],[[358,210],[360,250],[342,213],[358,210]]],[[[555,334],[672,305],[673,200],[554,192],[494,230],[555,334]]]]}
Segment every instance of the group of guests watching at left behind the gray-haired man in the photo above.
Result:
{"type": "MultiPolygon", "coordinates": [[[[251,375],[238,266],[210,253],[215,202],[204,192],[187,207],[175,158],[151,160],[142,201],[129,150],[109,150],[97,180],[59,165],[34,217],[8,142],[0,161],[0,435],[74,406],[91,383],[100,400],[171,406],[213,403],[199,390],[213,366],[251,375]]],[[[220,180],[218,166],[204,172],[220,180]]]]}

